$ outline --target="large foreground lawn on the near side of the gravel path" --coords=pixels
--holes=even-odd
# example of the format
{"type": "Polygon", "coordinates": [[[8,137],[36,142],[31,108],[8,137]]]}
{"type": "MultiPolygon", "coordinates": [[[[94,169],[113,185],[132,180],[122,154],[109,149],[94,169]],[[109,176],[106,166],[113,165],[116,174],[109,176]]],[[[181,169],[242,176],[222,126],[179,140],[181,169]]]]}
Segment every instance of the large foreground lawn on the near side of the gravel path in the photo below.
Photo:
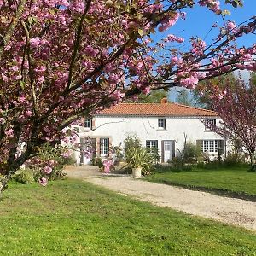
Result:
{"type": "Polygon", "coordinates": [[[12,183],[0,255],[256,255],[256,235],[75,180],[12,183]]]}

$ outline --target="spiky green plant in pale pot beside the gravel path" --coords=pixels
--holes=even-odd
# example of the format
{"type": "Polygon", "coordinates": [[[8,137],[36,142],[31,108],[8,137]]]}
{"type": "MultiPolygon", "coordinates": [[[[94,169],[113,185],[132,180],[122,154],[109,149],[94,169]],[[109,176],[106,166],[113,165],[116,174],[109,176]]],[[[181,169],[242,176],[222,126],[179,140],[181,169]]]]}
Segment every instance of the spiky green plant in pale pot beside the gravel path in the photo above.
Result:
{"type": "Polygon", "coordinates": [[[142,147],[128,148],[125,152],[125,158],[135,178],[142,177],[142,172],[148,172],[153,164],[151,154],[142,147]]]}

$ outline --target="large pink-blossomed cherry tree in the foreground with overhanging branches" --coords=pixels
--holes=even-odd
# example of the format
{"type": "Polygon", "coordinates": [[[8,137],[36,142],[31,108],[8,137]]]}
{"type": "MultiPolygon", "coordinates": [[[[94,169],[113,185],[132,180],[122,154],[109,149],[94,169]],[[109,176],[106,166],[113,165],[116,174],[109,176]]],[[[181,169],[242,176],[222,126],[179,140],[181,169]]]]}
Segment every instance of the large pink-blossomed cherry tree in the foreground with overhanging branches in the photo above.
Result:
{"type": "Polygon", "coordinates": [[[224,15],[217,0],[0,0],[0,191],[38,148],[67,137],[89,113],[142,92],[255,70],[255,44],[236,44],[255,31],[255,17],[213,25],[218,38],[191,38],[188,52],[178,35],[154,42],[152,34],[195,5],[224,15]]]}

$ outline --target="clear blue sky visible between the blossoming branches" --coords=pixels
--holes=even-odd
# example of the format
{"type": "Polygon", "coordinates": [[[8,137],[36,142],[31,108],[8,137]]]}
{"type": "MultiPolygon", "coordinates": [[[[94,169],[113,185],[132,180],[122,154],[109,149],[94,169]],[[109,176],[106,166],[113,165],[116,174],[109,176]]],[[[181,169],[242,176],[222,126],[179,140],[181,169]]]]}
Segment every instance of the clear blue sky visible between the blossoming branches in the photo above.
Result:
{"type": "MultiPolygon", "coordinates": [[[[234,9],[231,5],[223,4],[224,0],[221,0],[220,2],[222,3],[222,9],[227,9],[231,13],[231,15],[226,15],[224,19],[235,21],[237,25],[253,15],[256,15],[256,0],[244,0],[244,6],[237,9],[234,9]]],[[[207,8],[195,7],[193,9],[184,9],[184,11],[187,13],[186,20],[178,20],[175,26],[164,32],[164,35],[157,33],[154,39],[159,40],[167,34],[175,34],[185,38],[185,42],[187,42],[187,44],[184,44],[182,49],[187,50],[190,37],[198,36],[205,39],[207,44],[209,44],[218,34],[218,29],[215,29],[207,35],[212,24],[215,22],[218,23],[218,26],[223,26],[224,24],[221,15],[215,15],[207,8]]],[[[239,38],[237,42],[239,46],[250,46],[253,43],[256,43],[256,35],[246,35],[239,38]]],[[[174,101],[177,96],[177,90],[179,89],[172,89],[170,92],[169,97],[172,101],[174,101]]]]}

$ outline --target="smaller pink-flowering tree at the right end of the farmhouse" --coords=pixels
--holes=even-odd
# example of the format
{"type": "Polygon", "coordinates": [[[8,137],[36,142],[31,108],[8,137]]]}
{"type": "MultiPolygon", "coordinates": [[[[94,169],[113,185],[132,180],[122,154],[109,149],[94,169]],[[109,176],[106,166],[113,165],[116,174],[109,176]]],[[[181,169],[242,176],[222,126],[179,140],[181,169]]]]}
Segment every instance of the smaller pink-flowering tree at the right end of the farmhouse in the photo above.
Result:
{"type": "Polygon", "coordinates": [[[256,84],[240,79],[225,80],[223,84],[208,84],[204,93],[211,97],[212,108],[222,123],[212,130],[231,142],[239,141],[254,163],[256,150],[256,84]]]}

